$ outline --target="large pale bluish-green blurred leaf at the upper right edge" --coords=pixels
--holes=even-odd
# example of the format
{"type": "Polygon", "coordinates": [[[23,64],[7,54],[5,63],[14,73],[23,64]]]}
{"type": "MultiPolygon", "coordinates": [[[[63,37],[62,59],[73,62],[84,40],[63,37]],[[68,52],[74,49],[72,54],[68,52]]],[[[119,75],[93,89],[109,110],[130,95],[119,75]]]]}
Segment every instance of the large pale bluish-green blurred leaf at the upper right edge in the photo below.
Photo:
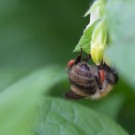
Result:
{"type": "Polygon", "coordinates": [[[112,39],[107,55],[125,80],[135,87],[135,1],[108,1],[106,16],[112,39]]]}

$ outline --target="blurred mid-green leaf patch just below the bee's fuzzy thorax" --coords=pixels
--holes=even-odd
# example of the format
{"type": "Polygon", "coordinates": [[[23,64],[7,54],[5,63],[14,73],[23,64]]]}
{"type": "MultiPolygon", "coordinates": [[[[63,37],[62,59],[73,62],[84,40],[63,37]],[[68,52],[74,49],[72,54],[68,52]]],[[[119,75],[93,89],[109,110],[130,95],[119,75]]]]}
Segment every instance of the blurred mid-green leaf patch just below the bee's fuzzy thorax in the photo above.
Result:
{"type": "Polygon", "coordinates": [[[89,101],[89,100],[80,100],[79,103],[96,110],[97,112],[101,112],[112,119],[117,119],[120,109],[122,108],[124,102],[124,97],[119,94],[115,95],[108,95],[105,98],[102,98],[97,101],[89,101]],[[108,109],[108,107],[110,107],[108,109]]]}

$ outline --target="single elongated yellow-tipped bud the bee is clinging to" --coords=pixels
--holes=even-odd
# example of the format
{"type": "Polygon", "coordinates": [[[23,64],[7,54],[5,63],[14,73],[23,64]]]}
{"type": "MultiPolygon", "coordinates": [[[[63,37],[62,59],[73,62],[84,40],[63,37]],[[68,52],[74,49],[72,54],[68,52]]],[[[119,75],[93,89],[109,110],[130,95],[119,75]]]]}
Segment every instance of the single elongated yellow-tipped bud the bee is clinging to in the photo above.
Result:
{"type": "Polygon", "coordinates": [[[107,42],[107,28],[105,19],[101,20],[95,27],[91,39],[91,57],[96,65],[99,65],[103,59],[107,42]]]}

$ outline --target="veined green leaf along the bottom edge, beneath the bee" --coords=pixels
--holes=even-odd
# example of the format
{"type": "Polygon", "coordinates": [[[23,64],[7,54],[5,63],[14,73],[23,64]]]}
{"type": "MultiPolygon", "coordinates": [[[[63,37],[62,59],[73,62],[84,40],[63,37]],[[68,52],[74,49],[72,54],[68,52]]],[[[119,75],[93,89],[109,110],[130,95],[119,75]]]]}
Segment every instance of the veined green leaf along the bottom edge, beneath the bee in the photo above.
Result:
{"type": "Polygon", "coordinates": [[[76,103],[46,98],[40,109],[37,135],[128,135],[111,119],[76,103]]]}

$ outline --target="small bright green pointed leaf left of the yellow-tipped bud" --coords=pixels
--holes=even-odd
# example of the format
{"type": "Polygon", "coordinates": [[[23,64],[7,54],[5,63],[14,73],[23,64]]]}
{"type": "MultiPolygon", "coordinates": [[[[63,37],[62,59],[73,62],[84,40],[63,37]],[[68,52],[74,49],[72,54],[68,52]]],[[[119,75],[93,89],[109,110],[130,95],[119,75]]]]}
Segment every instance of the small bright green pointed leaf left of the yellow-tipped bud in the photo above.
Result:
{"type": "Polygon", "coordinates": [[[98,22],[99,20],[95,21],[93,24],[91,24],[84,30],[83,35],[79,40],[79,43],[76,45],[74,49],[74,52],[80,52],[82,48],[82,50],[85,51],[86,53],[88,54],[90,53],[90,42],[91,42],[92,32],[98,22]]]}

